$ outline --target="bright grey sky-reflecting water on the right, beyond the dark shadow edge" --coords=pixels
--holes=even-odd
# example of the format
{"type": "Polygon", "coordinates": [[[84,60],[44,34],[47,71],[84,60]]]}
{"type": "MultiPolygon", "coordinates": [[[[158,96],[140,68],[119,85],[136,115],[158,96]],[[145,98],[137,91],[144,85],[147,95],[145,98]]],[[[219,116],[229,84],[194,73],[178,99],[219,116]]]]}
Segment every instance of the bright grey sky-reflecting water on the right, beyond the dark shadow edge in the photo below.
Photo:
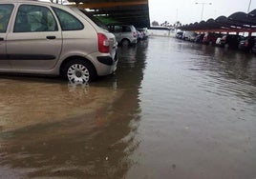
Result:
{"type": "Polygon", "coordinates": [[[256,57],[153,38],[127,178],[254,178],[256,57]]]}

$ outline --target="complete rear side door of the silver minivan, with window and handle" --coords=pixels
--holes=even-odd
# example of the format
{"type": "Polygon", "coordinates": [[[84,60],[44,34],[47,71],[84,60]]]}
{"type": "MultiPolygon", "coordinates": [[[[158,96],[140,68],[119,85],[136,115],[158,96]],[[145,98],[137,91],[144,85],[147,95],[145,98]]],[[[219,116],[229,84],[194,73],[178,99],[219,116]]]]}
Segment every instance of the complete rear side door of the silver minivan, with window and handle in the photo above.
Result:
{"type": "Polygon", "coordinates": [[[53,11],[31,4],[18,7],[7,40],[12,69],[27,72],[53,69],[62,47],[61,30],[53,11]]]}

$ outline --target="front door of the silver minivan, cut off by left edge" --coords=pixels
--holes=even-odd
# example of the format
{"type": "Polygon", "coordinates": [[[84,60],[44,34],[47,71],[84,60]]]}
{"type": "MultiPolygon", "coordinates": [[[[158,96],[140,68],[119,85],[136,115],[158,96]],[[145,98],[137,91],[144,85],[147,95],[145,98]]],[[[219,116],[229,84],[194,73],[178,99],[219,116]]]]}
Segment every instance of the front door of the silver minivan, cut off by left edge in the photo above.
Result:
{"type": "Polygon", "coordinates": [[[0,4],[0,69],[11,68],[6,51],[6,40],[13,8],[11,4],[0,4]]]}

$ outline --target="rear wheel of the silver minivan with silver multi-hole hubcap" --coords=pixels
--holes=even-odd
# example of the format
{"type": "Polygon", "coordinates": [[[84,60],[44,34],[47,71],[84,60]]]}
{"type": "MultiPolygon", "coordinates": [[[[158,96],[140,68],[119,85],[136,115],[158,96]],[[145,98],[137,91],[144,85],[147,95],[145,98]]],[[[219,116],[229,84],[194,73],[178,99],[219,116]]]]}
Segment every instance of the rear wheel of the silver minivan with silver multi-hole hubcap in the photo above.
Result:
{"type": "Polygon", "coordinates": [[[69,61],[63,70],[63,77],[72,83],[85,84],[96,79],[94,67],[83,59],[69,61]]]}

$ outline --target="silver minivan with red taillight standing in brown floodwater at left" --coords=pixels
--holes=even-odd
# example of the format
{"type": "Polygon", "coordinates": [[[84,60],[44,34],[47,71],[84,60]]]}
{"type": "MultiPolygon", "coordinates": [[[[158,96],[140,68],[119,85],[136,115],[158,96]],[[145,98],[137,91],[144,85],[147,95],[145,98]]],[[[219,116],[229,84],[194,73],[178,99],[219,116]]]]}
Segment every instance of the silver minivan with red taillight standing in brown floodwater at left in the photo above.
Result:
{"type": "Polygon", "coordinates": [[[117,41],[85,10],[47,2],[0,1],[0,72],[88,82],[117,69],[117,41]]]}

